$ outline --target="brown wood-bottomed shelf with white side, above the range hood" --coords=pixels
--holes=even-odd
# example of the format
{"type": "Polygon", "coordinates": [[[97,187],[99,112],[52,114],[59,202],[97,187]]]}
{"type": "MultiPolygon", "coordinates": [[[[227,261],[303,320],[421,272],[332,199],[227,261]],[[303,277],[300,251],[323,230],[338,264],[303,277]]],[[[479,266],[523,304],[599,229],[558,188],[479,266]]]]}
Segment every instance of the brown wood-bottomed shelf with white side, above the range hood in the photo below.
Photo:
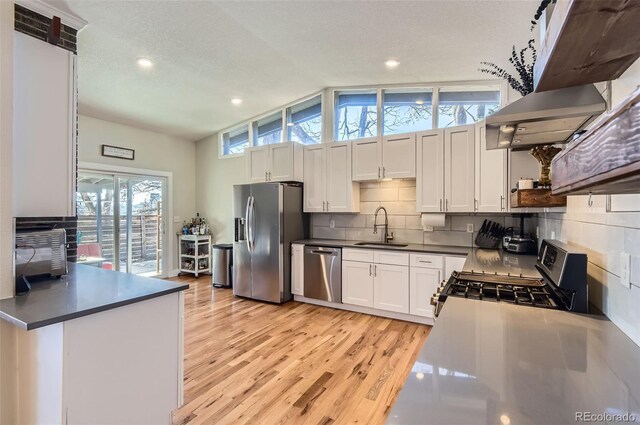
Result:
{"type": "Polygon", "coordinates": [[[640,57],[639,24],[637,1],[558,0],[533,69],[535,90],[618,78],[640,57]]]}

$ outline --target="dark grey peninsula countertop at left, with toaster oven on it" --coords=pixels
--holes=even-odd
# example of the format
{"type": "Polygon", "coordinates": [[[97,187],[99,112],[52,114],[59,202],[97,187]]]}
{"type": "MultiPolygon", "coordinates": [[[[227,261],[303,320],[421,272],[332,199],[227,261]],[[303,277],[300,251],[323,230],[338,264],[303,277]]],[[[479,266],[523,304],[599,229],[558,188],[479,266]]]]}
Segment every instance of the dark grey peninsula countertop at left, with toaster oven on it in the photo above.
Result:
{"type": "Polygon", "coordinates": [[[31,330],[133,304],[188,284],[69,263],[69,274],[32,284],[23,296],[0,300],[0,319],[31,330]]]}

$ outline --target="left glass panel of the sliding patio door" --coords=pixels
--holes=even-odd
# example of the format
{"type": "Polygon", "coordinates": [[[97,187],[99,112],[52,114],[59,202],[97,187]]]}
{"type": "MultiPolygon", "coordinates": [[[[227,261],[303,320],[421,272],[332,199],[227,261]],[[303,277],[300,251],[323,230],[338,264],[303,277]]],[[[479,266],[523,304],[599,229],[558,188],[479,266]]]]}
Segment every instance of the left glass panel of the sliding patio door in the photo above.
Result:
{"type": "Polygon", "coordinates": [[[113,176],[78,173],[78,263],[115,268],[113,176]]]}

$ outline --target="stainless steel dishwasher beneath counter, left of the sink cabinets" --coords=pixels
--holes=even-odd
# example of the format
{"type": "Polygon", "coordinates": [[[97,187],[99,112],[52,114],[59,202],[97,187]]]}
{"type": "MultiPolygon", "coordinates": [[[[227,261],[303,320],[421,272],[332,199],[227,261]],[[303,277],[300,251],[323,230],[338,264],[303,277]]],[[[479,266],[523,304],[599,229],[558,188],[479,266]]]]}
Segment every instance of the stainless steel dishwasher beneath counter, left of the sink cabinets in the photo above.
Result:
{"type": "Polygon", "coordinates": [[[304,247],[304,296],[342,302],[342,249],[304,247]]]}

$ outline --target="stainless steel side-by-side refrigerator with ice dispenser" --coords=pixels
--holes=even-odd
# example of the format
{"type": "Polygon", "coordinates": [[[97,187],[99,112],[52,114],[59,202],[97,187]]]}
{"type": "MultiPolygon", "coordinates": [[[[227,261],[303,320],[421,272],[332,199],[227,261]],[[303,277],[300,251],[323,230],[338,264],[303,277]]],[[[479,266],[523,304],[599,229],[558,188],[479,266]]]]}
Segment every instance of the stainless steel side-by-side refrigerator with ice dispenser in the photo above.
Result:
{"type": "Polygon", "coordinates": [[[233,293],[272,303],[291,296],[291,242],[309,235],[301,183],[233,187],[233,293]]]}

